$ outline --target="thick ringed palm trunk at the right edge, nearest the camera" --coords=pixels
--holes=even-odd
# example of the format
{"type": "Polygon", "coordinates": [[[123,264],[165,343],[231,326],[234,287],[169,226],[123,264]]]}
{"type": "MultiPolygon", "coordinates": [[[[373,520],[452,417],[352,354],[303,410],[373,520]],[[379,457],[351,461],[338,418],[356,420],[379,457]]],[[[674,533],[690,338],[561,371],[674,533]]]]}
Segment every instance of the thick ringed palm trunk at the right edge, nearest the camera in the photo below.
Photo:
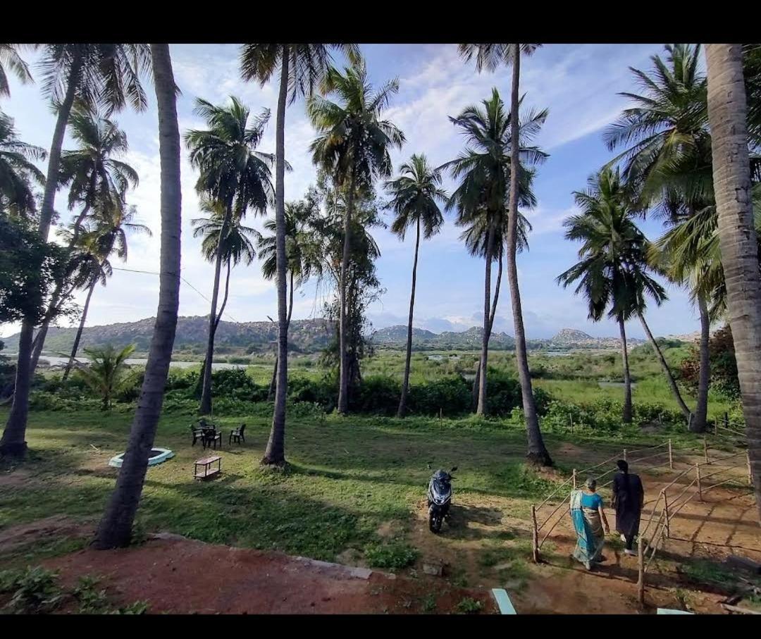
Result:
{"type": "Polygon", "coordinates": [[[750,200],[742,50],[739,44],[706,44],[705,59],[719,246],[761,518],[761,277],[750,200]]]}

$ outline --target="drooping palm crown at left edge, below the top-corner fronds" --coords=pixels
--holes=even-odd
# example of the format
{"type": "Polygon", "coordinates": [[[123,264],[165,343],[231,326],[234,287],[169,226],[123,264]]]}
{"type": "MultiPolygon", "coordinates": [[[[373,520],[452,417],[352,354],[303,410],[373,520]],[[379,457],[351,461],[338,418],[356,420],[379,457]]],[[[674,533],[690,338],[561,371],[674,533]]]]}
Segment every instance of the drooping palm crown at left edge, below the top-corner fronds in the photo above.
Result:
{"type": "Polygon", "coordinates": [[[28,217],[37,209],[31,183],[42,185],[45,176],[33,161],[45,155],[43,148],[21,141],[13,119],[0,113],[0,214],[28,217]]]}

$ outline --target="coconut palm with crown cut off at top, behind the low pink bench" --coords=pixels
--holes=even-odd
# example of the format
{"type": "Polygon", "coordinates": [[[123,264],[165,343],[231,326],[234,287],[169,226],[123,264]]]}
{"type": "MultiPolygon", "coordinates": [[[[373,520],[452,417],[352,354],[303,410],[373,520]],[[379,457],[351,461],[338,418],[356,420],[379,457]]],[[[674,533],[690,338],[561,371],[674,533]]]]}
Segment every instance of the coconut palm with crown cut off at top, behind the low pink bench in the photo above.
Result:
{"type": "Polygon", "coordinates": [[[288,392],[288,318],[285,301],[285,104],[290,98],[310,96],[320,86],[331,63],[330,49],[340,49],[356,59],[355,44],[250,43],[240,52],[240,71],[246,80],[266,84],[279,70],[277,122],[275,124],[275,224],[277,225],[278,382],[272,429],[263,464],[285,464],[285,395],[288,392]],[[290,96],[289,96],[290,94],[290,96]]]}

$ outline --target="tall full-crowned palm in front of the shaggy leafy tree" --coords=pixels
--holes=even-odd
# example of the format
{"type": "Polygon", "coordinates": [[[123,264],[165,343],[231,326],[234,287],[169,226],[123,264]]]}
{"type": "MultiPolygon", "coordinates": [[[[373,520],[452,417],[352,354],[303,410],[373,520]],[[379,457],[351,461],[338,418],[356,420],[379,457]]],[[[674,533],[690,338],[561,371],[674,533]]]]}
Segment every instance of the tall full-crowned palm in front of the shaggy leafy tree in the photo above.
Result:
{"type": "Polygon", "coordinates": [[[370,188],[377,178],[390,177],[393,166],[390,148],[402,148],[404,134],[393,122],[380,119],[391,97],[399,91],[392,80],[373,92],[364,61],[344,72],[330,68],[325,76],[324,93],[336,95],[341,103],[323,97],[307,101],[307,115],[317,130],[310,145],[314,164],[333,177],[336,186],[347,194],[344,220],[344,246],[339,281],[339,395],[338,410],[349,410],[349,369],[346,335],[346,269],[349,268],[354,200],[358,189],[370,188]]]}

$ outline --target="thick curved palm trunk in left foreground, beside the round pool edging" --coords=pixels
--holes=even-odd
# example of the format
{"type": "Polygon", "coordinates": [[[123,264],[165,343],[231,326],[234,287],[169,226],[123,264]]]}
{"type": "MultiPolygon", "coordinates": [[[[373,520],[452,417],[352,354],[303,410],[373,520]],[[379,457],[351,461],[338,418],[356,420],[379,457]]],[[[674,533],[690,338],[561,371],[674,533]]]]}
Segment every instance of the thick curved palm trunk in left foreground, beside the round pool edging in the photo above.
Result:
{"type": "Polygon", "coordinates": [[[135,418],[129,433],[116,489],[97,529],[96,548],[129,544],[132,523],[142,494],[167,383],[180,306],[180,128],[177,126],[177,85],[174,84],[169,45],[151,44],[154,86],[158,101],[158,141],[161,158],[161,276],[158,311],[145,365],[135,418]]]}

